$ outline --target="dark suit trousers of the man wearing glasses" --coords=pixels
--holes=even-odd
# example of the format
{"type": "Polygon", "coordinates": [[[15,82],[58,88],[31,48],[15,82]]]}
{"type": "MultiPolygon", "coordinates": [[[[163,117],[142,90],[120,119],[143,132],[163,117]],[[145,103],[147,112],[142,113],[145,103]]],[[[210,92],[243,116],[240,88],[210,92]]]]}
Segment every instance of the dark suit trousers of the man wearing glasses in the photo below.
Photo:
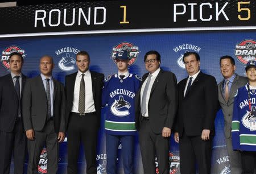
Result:
{"type": "Polygon", "coordinates": [[[139,129],[139,145],[141,147],[144,174],[156,173],[156,161],[159,174],[170,173],[169,145],[170,138],[155,134],[150,127],[150,121],[143,118],[139,129]]]}

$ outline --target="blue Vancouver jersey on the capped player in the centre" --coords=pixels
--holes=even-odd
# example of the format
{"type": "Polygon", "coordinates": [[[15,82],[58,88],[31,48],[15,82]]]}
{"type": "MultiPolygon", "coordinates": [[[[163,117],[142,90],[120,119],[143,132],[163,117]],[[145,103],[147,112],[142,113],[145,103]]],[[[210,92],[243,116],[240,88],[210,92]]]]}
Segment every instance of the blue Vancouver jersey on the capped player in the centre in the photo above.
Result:
{"type": "Polygon", "coordinates": [[[105,131],[112,135],[134,135],[135,95],[140,78],[135,74],[121,79],[113,74],[105,79],[102,91],[102,106],[107,107],[105,131]]]}

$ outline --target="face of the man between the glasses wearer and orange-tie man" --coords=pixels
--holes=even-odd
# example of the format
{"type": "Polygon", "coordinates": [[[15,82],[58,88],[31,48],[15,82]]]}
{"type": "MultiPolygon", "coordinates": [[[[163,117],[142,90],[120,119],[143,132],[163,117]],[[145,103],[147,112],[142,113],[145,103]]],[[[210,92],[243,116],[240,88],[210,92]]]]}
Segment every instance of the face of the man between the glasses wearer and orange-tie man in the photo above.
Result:
{"type": "Polygon", "coordinates": [[[193,74],[199,72],[200,60],[196,60],[195,55],[189,55],[187,57],[184,57],[184,64],[189,76],[193,76],[193,74]]]}

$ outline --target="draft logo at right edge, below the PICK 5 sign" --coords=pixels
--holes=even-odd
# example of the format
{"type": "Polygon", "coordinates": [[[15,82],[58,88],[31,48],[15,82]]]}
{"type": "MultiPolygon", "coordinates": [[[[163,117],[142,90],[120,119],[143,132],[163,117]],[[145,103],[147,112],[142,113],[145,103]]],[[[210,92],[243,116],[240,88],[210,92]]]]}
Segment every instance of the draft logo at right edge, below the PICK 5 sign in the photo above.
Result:
{"type": "Polygon", "coordinates": [[[236,45],[235,56],[242,64],[247,64],[248,61],[255,60],[256,41],[246,39],[236,45]]]}

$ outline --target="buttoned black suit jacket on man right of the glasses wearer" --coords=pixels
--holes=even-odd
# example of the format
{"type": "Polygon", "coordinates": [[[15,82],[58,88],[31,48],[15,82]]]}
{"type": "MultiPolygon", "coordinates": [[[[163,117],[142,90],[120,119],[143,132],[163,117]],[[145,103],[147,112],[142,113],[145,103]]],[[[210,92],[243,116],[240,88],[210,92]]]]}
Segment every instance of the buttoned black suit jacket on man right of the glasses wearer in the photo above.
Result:
{"type": "Polygon", "coordinates": [[[187,136],[201,136],[203,129],[214,135],[214,119],[218,110],[218,87],[213,76],[200,72],[184,97],[188,77],[178,84],[179,109],[177,131],[181,137],[183,129],[187,136]]]}

